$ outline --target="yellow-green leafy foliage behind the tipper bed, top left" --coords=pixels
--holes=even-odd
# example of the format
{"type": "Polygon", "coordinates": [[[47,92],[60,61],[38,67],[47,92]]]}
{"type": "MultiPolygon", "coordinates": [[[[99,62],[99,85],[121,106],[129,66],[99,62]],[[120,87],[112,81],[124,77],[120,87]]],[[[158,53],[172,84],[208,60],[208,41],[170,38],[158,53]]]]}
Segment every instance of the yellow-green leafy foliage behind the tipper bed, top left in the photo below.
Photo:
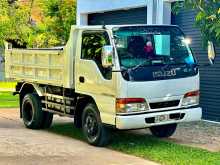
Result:
{"type": "Polygon", "coordinates": [[[51,47],[65,44],[76,22],[75,0],[0,0],[0,46],[5,40],[25,47],[51,47]],[[40,19],[33,20],[38,7],[40,19]]]}

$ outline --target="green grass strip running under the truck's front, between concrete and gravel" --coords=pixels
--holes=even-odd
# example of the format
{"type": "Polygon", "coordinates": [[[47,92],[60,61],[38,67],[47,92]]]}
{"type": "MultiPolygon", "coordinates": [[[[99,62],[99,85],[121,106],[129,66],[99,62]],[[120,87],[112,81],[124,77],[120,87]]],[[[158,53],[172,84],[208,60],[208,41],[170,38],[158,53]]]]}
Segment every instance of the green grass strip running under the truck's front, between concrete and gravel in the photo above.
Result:
{"type": "MultiPolygon", "coordinates": [[[[85,141],[81,130],[74,128],[72,123],[57,123],[48,131],[85,141]]],[[[113,141],[108,148],[164,165],[220,165],[220,152],[187,147],[150,135],[113,132],[113,141]]]]}

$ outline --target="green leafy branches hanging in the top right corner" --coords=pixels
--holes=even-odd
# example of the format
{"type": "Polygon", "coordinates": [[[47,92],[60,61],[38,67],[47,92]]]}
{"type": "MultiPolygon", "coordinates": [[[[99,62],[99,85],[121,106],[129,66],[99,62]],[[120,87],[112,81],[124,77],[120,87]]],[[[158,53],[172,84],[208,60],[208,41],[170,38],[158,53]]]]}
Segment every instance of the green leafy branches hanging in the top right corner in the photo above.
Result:
{"type": "Polygon", "coordinates": [[[201,30],[204,44],[213,41],[216,45],[220,45],[220,1],[185,0],[184,3],[177,2],[173,9],[178,13],[182,7],[197,11],[195,25],[201,30]]]}

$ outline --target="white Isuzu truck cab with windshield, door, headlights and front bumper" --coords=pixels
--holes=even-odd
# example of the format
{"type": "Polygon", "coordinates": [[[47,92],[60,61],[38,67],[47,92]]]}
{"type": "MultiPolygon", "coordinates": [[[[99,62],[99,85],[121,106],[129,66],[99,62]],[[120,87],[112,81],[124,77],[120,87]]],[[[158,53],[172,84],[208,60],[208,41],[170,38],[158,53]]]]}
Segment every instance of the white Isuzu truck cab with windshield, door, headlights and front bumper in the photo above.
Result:
{"type": "Polygon", "coordinates": [[[107,124],[138,129],[201,119],[198,65],[177,26],[106,26],[81,36],[76,91],[91,92],[107,124]],[[112,54],[109,65],[102,51],[112,54]]]}

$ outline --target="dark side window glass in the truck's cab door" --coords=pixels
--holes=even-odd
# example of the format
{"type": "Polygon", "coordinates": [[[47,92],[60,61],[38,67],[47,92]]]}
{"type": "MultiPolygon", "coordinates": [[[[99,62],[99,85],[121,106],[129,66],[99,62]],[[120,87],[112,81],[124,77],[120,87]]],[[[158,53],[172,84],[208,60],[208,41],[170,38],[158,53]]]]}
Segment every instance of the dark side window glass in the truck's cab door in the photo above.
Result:
{"type": "Polygon", "coordinates": [[[105,79],[111,79],[111,69],[102,67],[102,47],[110,45],[108,33],[105,31],[85,31],[82,34],[81,59],[93,60],[105,79]]]}

